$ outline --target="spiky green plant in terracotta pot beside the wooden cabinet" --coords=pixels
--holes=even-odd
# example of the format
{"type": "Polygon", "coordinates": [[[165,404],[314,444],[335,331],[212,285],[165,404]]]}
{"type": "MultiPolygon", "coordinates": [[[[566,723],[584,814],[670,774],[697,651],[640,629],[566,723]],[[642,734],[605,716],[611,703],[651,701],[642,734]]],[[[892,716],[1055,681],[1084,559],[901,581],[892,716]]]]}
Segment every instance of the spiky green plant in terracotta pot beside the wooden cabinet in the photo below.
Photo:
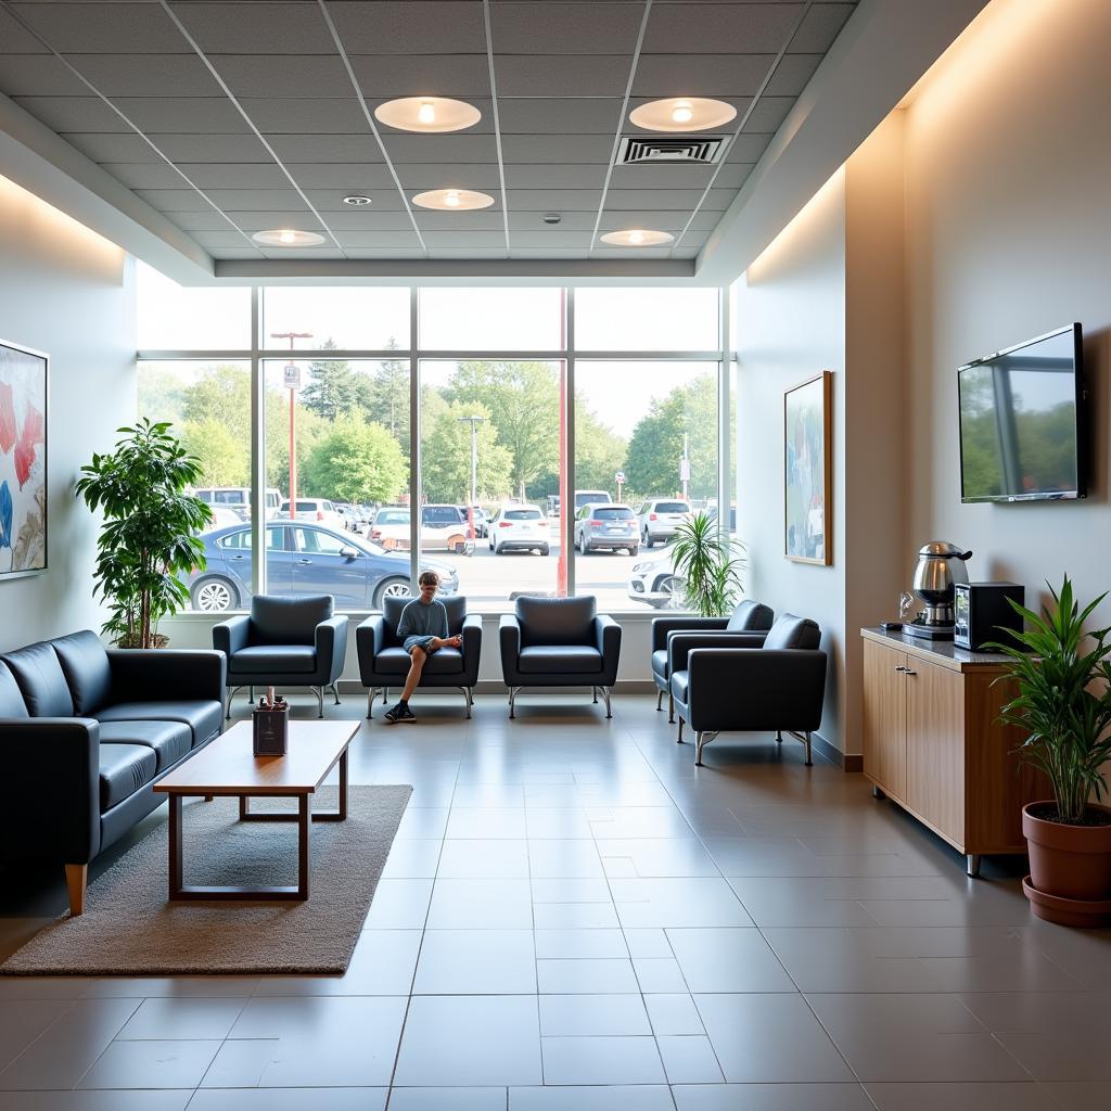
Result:
{"type": "Polygon", "coordinates": [[[1062,925],[1111,922],[1111,809],[1101,765],[1111,758],[1111,629],[1084,632],[1107,597],[1081,610],[1068,575],[1041,614],[1011,602],[1025,619],[1019,644],[992,644],[1010,657],[1018,695],[1000,719],[1022,730],[1023,761],[1044,772],[1052,800],[1022,809],[1030,875],[1022,887],[1039,918],[1062,925]]]}

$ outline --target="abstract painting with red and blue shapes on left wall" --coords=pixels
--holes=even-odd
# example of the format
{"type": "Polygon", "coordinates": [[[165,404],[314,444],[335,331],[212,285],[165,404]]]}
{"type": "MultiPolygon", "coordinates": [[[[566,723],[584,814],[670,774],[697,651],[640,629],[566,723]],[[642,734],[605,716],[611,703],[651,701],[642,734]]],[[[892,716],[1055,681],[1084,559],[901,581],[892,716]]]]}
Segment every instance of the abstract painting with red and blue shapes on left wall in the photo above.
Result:
{"type": "Polygon", "coordinates": [[[50,358],[0,340],[0,582],[47,570],[50,358]]]}

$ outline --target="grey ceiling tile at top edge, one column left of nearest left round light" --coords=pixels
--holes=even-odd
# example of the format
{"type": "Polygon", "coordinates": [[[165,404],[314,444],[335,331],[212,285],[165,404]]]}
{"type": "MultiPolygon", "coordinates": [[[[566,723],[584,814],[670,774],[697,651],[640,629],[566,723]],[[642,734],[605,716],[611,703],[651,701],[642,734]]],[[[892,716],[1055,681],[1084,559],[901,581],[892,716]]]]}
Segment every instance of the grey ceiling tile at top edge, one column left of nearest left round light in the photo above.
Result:
{"type": "MultiPolygon", "coordinates": [[[[209,54],[334,54],[320,6],[303,3],[176,3],[173,13],[209,54]]],[[[219,59],[213,58],[218,63],[219,59]]]]}

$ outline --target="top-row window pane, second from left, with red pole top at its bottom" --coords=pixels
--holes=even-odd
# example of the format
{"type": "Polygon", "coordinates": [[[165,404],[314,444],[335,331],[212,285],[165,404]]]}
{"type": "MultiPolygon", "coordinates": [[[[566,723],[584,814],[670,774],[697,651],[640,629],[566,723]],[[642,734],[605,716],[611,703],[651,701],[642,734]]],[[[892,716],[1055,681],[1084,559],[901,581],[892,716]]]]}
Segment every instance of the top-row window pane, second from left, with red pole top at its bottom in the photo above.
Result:
{"type": "Polygon", "coordinates": [[[409,290],[377,286],[273,286],[262,291],[262,342],[300,351],[341,348],[392,351],[409,347],[409,290]]]}

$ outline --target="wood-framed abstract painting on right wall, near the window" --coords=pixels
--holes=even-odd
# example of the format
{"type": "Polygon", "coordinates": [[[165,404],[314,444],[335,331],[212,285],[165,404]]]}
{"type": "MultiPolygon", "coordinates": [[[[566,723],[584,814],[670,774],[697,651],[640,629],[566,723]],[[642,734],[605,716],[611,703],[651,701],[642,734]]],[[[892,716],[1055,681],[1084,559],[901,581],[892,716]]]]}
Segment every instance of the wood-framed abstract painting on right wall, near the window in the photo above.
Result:
{"type": "Polygon", "coordinates": [[[833,376],[783,394],[783,554],[799,563],[833,562],[830,500],[830,400],[833,376]]]}

